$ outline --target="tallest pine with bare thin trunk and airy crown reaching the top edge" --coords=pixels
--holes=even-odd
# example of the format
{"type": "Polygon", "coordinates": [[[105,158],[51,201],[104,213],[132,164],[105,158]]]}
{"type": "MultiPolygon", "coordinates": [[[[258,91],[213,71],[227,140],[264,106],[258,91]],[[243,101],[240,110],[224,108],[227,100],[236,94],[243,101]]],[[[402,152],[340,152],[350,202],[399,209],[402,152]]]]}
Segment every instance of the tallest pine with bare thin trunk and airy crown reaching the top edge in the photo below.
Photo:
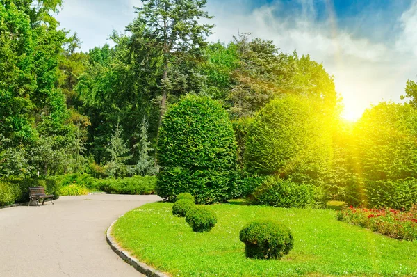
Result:
{"type": "Polygon", "coordinates": [[[206,0],[141,0],[143,6],[136,8],[138,19],[132,26],[142,26],[142,42],[163,57],[162,98],[159,123],[161,125],[167,102],[168,72],[174,56],[199,56],[206,45],[205,38],[213,25],[200,24],[200,19],[211,16],[202,8],[206,0]]]}

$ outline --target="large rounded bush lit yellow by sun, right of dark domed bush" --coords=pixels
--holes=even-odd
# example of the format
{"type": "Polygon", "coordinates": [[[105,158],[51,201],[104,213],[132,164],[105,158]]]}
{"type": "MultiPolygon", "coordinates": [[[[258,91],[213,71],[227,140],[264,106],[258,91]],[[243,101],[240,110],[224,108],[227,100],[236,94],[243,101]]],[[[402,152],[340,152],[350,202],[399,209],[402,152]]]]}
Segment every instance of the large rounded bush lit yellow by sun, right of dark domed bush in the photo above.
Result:
{"type": "Polygon", "coordinates": [[[257,113],[246,137],[248,171],[316,183],[329,170],[332,119],[305,97],[272,100],[257,113]]]}

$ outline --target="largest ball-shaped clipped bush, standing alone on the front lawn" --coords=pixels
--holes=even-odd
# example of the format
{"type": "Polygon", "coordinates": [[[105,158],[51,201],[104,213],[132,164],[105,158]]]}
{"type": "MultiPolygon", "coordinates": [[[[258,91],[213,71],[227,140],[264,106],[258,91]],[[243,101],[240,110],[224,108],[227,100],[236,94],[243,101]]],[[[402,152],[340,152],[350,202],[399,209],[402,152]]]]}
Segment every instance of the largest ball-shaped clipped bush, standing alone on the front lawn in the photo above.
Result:
{"type": "Polygon", "coordinates": [[[240,230],[248,258],[280,259],[293,248],[293,235],[286,225],[277,221],[257,220],[240,230]]]}

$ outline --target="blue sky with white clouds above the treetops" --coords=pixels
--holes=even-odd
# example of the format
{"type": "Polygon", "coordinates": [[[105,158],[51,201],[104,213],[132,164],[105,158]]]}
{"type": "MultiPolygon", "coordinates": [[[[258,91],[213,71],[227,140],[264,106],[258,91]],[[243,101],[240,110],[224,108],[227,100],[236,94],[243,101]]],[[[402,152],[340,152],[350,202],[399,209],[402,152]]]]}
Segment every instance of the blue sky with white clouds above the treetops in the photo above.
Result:
{"type": "MultiPolygon", "coordinates": [[[[133,6],[140,0],[67,0],[57,18],[88,51],[123,32],[133,6]]],[[[206,10],[210,41],[252,33],[322,63],[350,120],[371,104],[400,102],[407,79],[417,80],[417,0],[208,0],[206,10]]]]}

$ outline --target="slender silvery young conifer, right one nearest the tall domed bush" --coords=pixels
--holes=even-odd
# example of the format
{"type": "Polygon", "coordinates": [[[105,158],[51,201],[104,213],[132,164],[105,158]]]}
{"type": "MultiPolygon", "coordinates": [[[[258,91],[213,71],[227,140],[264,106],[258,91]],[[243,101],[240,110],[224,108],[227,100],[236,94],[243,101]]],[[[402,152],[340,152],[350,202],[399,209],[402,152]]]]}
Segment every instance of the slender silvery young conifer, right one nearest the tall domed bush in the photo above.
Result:
{"type": "Polygon", "coordinates": [[[154,151],[154,148],[151,148],[151,143],[148,141],[148,122],[145,118],[143,118],[142,125],[140,126],[139,137],[139,142],[133,145],[133,148],[139,149],[136,171],[142,176],[155,174],[155,160],[154,157],[149,155],[149,152],[154,151]]]}

